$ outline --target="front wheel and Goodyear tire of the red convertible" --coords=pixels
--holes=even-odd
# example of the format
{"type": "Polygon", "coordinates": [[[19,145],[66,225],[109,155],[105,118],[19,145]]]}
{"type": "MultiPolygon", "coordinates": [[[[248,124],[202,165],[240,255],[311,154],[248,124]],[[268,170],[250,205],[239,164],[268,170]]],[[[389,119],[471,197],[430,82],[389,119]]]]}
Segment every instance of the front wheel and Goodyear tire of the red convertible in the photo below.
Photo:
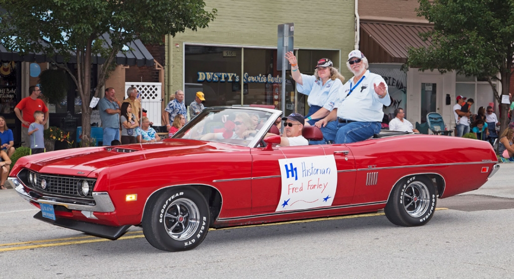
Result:
{"type": "Polygon", "coordinates": [[[170,188],[150,199],[144,212],[144,237],[163,251],[186,251],[200,245],[209,231],[209,206],[193,188],[170,188]]]}

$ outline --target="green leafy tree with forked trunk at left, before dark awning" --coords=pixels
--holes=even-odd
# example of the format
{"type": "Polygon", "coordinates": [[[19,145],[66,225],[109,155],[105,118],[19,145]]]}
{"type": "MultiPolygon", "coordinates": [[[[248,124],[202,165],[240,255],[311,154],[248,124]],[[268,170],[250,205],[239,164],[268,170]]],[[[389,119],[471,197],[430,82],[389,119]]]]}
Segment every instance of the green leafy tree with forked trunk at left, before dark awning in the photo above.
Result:
{"type": "Polygon", "coordinates": [[[0,0],[0,40],[22,54],[41,52],[53,59],[58,53],[69,61],[77,58],[77,68],[65,69],[82,98],[83,135],[90,135],[90,72],[94,55],[105,59],[99,73],[96,97],[113,69],[116,54],[140,39],[147,44],[162,43],[166,34],[205,28],[214,20],[216,9],[206,11],[202,0],[0,0]],[[110,32],[111,42],[100,40],[110,32]]]}

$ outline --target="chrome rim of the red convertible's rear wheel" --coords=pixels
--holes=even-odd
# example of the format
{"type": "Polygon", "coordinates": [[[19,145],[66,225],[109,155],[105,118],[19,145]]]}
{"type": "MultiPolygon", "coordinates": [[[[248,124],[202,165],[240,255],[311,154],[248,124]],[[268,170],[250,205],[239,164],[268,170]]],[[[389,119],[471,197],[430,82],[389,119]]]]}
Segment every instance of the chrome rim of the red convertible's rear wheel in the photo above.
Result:
{"type": "Polygon", "coordinates": [[[410,216],[417,218],[425,214],[430,206],[430,193],[427,185],[419,181],[412,182],[403,191],[403,207],[410,216]]]}

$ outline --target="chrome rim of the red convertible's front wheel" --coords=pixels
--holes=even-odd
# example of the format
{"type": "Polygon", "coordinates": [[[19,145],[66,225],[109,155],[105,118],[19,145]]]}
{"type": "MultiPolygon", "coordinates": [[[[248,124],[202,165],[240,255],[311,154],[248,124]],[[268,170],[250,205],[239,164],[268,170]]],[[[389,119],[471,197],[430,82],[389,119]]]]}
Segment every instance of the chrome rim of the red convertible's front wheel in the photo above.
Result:
{"type": "Polygon", "coordinates": [[[166,208],[163,224],[171,238],[188,239],[194,235],[200,225],[200,211],[192,200],[177,199],[166,208]]]}

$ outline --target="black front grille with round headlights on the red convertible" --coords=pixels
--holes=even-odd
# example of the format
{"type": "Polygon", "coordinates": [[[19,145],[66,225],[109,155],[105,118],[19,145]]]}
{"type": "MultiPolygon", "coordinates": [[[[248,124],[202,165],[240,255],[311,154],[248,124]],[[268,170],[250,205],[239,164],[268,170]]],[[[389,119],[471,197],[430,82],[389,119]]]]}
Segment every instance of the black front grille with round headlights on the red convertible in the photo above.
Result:
{"type": "Polygon", "coordinates": [[[38,190],[38,192],[88,199],[93,198],[93,189],[95,189],[96,183],[96,179],[91,178],[40,174],[34,171],[24,173],[22,181],[29,188],[38,190]],[[35,177],[35,182],[33,177],[35,177]],[[43,183],[43,180],[45,183],[43,183]],[[82,183],[84,181],[87,181],[89,184],[89,191],[86,195],[82,192],[82,183]],[[44,189],[43,185],[45,186],[44,189]]]}

